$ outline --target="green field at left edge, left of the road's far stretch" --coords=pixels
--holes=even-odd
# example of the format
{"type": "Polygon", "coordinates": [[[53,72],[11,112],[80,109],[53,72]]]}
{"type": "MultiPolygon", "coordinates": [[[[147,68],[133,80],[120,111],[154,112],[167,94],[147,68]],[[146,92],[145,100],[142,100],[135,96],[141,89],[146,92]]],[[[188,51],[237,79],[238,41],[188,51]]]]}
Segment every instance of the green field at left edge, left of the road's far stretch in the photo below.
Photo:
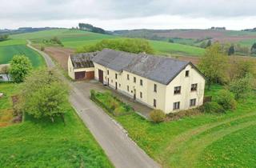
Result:
{"type": "Polygon", "coordinates": [[[9,63],[16,54],[25,54],[26,57],[30,58],[34,67],[45,65],[42,56],[26,46],[26,40],[9,39],[7,41],[0,42],[0,64],[9,63]]]}

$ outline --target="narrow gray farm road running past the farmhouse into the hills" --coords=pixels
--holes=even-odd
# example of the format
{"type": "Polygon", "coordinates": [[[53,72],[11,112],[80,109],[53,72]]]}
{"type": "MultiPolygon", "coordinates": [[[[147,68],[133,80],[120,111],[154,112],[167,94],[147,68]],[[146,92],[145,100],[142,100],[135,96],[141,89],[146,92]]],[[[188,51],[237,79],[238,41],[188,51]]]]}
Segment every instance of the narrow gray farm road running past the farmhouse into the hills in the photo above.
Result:
{"type": "MultiPolygon", "coordinates": [[[[48,67],[54,67],[54,62],[50,56],[31,46],[28,47],[42,54],[48,67]]],[[[61,74],[61,73],[60,73],[61,74]]],[[[61,74],[62,75],[62,74],[61,74]]],[[[63,80],[68,82],[71,88],[70,102],[77,111],[82,121],[89,128],[94,138],[98,141],[102,149],[115,167],[120,168],[150,168],[159,167],[143,150],[141,150],[101,108],[90,101],[90,93],[82,92],[81,87],[75,82],[69,82],[62,75],[63,80]]]]}

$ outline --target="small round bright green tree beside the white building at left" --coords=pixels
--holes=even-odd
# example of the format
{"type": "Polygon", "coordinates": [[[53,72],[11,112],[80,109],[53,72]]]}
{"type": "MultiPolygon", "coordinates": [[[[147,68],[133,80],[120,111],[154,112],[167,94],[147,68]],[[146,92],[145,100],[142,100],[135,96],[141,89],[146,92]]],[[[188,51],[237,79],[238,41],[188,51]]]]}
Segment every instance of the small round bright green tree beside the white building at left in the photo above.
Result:
{"type": "Polygon", "coordinates": [[[25,55],[15,55],[10,61],[10,76],[14,82],[23,82],[30,70],[32,70],[32,64],[25,55]]]}

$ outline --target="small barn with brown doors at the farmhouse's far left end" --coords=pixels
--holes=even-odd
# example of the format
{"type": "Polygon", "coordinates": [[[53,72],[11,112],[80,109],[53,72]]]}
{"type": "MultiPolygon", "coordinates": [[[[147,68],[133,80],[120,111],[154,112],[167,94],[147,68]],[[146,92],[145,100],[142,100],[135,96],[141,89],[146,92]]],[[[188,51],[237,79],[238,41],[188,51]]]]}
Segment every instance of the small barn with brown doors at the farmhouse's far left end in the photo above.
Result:
{"type": "Polygon", "coordinates": [[[74,80],[94,79],[94,63],[92,58],[96,54],[98,52],[70,55],[68,59],[70,78],[74,80]]]}

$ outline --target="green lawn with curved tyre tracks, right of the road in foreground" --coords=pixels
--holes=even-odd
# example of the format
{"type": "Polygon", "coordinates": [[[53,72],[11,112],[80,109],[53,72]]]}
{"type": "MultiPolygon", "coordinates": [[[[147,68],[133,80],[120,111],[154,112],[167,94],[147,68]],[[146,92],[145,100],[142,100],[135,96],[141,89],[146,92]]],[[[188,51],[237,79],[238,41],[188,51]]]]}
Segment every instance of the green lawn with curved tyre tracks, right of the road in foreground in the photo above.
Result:
{"type": "MultiPolygon", "coordinates": [[[[213,86],[206,94],[214,96],[213,93],[220,89],[221,86],[213,86]]],[[[237,138],[239,131],[256,126],[255,100],[256,93],[253,93],[238,103],[237,110],[226,114],[201,114],[160,124],[149,122],[138,114],[112,117],[163,167],[226,167],[224,163],[231,161],[222,156],[229,153],[232,153],[235,166],[250,167],[255,165],[255,160],[246,157],[255,156],[256,150],[245,150],[243,146],[254,149],[250,144],[256,135],[243,134],[246,141],[242,141],[242,135],[240,141],[232,138],[237,138]],[[219,143],[225,145],[219,146],[219,143]],[[235,154],[233,146],[243,154],[235,154]],[[246,162],[247,159],[250,161],[246,162]],[[240,162],[242,160],[244,162],[240,162]]]]}

